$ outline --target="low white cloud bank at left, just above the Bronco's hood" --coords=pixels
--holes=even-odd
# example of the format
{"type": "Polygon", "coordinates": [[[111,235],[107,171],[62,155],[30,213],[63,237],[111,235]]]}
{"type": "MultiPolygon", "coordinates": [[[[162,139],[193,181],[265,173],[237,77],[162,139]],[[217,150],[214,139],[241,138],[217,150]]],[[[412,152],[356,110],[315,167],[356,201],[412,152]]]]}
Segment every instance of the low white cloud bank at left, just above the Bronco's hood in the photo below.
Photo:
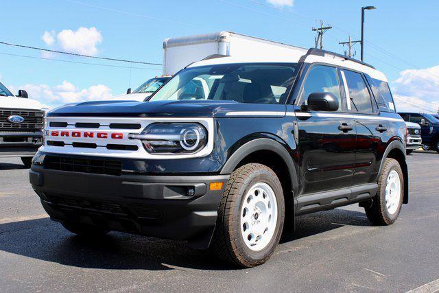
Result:
{"type": "Polygon", "coordinates": [[[62,84],[48,86],[47,84],[25,84],[23,86],[12,86],[12,90],[25,89],[29,98],[36,99],[48,106],[61,106],[62,104],[87,102],[111,99],[112,92],[108,86],[97,84],[88,89],[79,89],[71,82],[64,80],[62,84]]]}

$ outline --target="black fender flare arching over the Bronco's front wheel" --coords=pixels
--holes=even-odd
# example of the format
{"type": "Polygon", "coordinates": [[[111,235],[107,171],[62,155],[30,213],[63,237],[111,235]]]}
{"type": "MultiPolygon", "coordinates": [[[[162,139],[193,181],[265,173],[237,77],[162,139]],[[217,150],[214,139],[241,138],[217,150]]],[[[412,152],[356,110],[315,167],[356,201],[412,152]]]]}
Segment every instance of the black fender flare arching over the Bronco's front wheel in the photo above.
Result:
{"type": "Polygon", "coordinates": [[[278,141],[275,141],[274,139],[266,139],[266,138],[253,139],[252,141],[248,141],[247,143],[244,143],[244,145],[241,145],[241,147],[239,147],[235,152],[233,152],[233,154],[228,158],[228,160],[222,167],[221,172],[219,172],[219,174],[232,173],[236,169],[237,165],[244,158],[246,158],[246,156],[252,154],[253,152],[257,152],[261,150],[268,150],[278,154],[278,156],[281,156],[283,162],[288,168],[289,178],[292,184],[293,196],[295,196],[296,191],[298,190],[298,177],[296,173],[296,164],[294,163],[291,155],[285,149],[285,147],[278,141]]]}

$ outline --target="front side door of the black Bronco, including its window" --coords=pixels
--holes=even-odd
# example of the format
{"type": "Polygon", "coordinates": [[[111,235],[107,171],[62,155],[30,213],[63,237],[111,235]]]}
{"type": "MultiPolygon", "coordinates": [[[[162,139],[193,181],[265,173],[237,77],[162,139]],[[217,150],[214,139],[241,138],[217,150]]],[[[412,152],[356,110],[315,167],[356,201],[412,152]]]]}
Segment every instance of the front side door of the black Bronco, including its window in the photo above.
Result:
{"type": "Polygon", "coordinates": [[[329,92],[339,99],[339,110],[302,111],[296,108],[301,193],[342,189],[352,184],[355,161],[355,121],[342,113],[344,103],[337,69],[314,65],[300,91],[298,105],[307,104],[311,93],[329,92]]]}

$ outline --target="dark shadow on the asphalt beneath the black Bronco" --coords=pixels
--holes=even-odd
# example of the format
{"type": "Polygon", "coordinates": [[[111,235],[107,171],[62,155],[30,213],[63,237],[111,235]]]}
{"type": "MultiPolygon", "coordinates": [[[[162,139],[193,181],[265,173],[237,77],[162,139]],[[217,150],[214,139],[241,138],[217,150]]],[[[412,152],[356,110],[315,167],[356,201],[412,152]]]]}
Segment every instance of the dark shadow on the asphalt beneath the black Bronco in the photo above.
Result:
{"type": "MultiPolygon", "coordinates": [[[[364,213],[336,209],[298,218],[296,234],[282,242],[309,237],[344,225],[369,226],[364,213]]],[[[49,218],[0,224],[0,250],[24,257],[79,268],[108,270],[234,270],[209,250],[185,242],[112,232],[100,239],[83,239],[49,218]]],[[[280,248],[281,249],[281,248],[280,248]]]]}

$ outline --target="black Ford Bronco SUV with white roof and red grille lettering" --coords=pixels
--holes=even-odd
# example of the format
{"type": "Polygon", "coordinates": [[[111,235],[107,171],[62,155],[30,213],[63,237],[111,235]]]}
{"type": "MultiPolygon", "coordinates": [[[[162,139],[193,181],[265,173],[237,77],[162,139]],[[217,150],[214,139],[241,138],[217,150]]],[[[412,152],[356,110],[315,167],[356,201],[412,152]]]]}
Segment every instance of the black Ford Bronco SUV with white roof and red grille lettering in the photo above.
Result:
{"type": "Polygon", "coordinates": [[[207,58],[146,102],[48,113],[30,183],[78,235],[183,239],[252,267],[296,215],[359,203],[392,224],[408,202],[405,123],[385,76],[344,56],[207,58]]]}

